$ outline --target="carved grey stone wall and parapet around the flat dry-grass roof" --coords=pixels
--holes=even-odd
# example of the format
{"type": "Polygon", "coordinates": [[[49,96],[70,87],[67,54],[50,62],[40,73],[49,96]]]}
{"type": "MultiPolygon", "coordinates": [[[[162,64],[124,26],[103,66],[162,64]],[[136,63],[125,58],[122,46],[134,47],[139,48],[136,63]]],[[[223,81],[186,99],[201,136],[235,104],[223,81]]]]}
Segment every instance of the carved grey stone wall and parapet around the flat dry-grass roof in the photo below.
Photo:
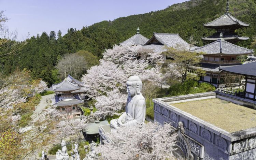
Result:
{"type": "Polygon", "coordinates": [[[174,128],[182,122],[195,160],[255,160],[256,129],[229,133],[166,103],[213,98],[213,94],[208,92],[154,99],[154,121],[171,123],[174,128]]]}

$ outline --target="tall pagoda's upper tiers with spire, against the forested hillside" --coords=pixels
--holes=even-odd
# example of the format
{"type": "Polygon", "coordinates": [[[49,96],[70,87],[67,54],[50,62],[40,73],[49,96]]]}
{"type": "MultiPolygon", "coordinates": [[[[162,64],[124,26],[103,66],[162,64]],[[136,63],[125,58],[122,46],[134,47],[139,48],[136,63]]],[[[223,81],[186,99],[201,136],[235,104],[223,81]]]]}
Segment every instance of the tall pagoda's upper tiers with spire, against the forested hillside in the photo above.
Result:
{"type": "Polygon", "coordinates": [[[207,24],[203,24],[203,26],[217,31],[209,37],[203,37],[202,40],[205,41],[216,41],[219,39],[221,33],[223,34],[223,39],[231,43],[249,39],[248,37],[241,37],[235,33],[236,29],[248,27],[250,24],[238,20],[229,13],[229,0],[227,0],[226,13],[207,24]]]}

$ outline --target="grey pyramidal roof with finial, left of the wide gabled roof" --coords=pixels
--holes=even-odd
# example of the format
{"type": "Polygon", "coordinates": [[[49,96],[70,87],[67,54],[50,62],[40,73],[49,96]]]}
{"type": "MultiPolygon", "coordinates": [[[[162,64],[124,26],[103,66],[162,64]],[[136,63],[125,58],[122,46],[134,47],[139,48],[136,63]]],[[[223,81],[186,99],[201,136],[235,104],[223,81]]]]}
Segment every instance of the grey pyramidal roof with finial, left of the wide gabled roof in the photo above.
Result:
{"type": "Polygon", "coordinates": [[[120,43],[120,45],[129,44],[129,45],[143,45],[145,42],[148,41],[146,37],[140,34],[140,29],[138,27],[137,33],[133,35],[131,38],[127,39],[126,41],[120,43]]]}

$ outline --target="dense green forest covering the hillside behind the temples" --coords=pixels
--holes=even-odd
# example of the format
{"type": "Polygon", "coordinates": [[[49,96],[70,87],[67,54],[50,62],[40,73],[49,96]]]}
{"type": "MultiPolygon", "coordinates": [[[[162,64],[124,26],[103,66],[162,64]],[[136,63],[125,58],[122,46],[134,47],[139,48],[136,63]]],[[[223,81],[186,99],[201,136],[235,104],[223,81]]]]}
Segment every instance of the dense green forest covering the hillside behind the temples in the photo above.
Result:
{"type": "MultiPolygon", "coordinates": [[[[215,32],[204,28],[203,24],[224,14],[225,9],[226,0],[191,0],[160,11],[81,26],[80,30],[70,28],[65,35],[60,31],[48,34],[43,32],[22,42],[25,45],[16,54],[0,57],[0,70],[9,74],[16,69],[27,69],[33,78],[42,78],[53,84],[59,81],[55,66],[63,55],[86,50],[100,59],[105,48],[130,38],[138,26],[141,34],[147,38],[153,32],[179,33],[180,37],[188,41],[193,35],[198,42],[196,45],[202,46],[208,42],[203,42],[201,37],[215,32]]],[[[237,45],[254,49],[256,45],[252,45],[252,42],[256,35],[256,0],[230,0],[230,13],[251,25],[236,31],[239,35],[250,37],[250,40],[237,45]]],[[[4,48],[0,48],[1,52],[4,52],[4,48]]]]}

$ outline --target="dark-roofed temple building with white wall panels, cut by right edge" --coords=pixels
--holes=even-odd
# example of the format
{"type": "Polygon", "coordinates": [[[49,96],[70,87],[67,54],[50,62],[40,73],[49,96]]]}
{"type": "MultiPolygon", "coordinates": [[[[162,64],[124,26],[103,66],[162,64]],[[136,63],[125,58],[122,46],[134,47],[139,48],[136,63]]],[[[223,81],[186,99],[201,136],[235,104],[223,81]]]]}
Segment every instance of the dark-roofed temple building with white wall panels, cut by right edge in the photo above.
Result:
{"type": "Polygon", "coordinates": [[[219,68],[224,73],[245,76],[245,87],[242,98],[256,101],[256,62],[239,66],[219,68]]]}

